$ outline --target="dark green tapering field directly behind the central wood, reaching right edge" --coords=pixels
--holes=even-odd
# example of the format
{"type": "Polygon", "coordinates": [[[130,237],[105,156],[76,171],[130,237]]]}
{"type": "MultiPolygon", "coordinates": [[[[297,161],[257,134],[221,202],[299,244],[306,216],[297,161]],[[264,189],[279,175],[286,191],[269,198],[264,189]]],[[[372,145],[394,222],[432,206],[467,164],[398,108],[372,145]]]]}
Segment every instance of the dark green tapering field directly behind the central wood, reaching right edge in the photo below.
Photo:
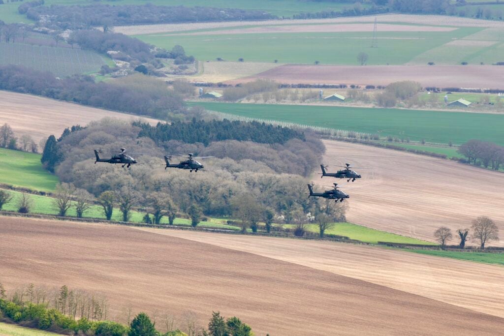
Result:
{"type": "Polygon", "coordinates": [[[504,115],[313,105],[193,103],[209,110],[293,122],[303,125],[424,139],[429,143],[463,144],[470,139],[504,145],[504,115]]]}

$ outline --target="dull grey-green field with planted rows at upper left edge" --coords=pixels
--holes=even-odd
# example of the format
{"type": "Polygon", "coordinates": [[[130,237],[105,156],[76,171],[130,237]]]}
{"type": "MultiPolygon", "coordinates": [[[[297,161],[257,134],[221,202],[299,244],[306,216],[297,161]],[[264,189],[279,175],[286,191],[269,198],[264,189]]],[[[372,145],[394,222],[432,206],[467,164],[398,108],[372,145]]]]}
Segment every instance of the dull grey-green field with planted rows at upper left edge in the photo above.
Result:
{"type": "Polygon", "coordinates": [[[24,65],[55,76],[98,72],[106,62],[96,52],[66,47],[0,42],[0,65],[24,65]]]}

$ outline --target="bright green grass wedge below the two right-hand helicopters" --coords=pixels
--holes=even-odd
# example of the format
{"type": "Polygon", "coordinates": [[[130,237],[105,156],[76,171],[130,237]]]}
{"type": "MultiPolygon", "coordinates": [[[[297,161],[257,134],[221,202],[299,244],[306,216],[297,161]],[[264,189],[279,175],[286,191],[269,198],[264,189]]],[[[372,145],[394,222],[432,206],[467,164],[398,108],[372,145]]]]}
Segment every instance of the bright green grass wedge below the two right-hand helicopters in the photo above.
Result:
{"type": "MultiPolygon", "coordinates": [[[[295,225],[288,224],[284,225],[286,228],[294,228],[295,225]]],[[[319,232],[319,226],[317,224],[306,225],[306,229],[310,232],[319,232]]],[[[415,239],[411,237],[401,236],[394,233],[375,230],[367,228],[365,226],[356,225],[352,223],[336,223],[334,228],[326,230],[327,234],[335,234],[339,236],[346,236],[350,239],[360,240],[366,243],[376,244],[379,241],[384,241],[388,243],[403,243],[403,244],[432,244],[434,243],[415,239]]]]}

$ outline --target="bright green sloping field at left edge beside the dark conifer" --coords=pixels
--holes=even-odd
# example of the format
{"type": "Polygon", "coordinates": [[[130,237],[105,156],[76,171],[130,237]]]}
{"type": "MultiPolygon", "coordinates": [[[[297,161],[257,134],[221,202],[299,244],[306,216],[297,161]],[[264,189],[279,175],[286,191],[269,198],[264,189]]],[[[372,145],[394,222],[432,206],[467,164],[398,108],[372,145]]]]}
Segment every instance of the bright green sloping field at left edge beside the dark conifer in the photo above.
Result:
{"type": "Polygon", "coordinates": [[[58,178],[42,168],[40,158],[40,154],[0,148],[0,183],[53,191],[58,178]]]}

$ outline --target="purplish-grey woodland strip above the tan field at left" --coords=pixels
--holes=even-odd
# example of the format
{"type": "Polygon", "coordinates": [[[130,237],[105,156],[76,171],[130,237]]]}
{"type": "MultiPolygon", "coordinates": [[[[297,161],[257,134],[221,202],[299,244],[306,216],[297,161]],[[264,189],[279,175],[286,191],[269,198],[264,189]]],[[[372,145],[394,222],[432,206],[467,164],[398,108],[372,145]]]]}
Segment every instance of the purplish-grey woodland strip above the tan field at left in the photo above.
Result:
{"type": "Polygon", "coordinates": [[[138,115],[166,119],[185,110],[183,101],[163,83],[130,76],[114,83],[95,83],[93,78],[75,75],[59,79],[51,73],[24,66],[0,66],[0,90],[29,93],[52,99],[138,115]]]}

